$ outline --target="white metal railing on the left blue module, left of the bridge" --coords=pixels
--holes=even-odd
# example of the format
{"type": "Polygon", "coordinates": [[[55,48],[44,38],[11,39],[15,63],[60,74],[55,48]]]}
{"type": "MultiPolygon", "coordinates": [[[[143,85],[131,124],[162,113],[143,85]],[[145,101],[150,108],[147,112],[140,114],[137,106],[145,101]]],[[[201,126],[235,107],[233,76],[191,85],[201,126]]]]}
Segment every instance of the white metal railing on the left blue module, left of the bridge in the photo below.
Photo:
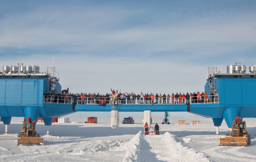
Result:
{"type": "Polygon", "coordinates": [[[74,102],[73,97],[69,96],[55,96],[55,95],[44,95],[44,103],[65,103],[72,104],[74,102]]]}

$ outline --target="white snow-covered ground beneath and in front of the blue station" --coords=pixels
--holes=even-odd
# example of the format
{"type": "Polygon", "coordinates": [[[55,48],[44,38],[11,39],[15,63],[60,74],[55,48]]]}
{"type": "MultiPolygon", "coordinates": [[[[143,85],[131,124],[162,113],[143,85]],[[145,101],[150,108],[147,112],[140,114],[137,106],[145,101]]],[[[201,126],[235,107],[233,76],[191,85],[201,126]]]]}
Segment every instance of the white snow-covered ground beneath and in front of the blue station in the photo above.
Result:
{"type": "MultiPolygon", "coordinates": [[[[135,124],[120,124],[117,129],[110,127],[110,117],[99,116],[98,124],[84,123],[87,117],[68,117],[70,123],[50,126],[50,133],[59,138],[44,138],[44,146],[17,146],[17,137],[0,137],[0,161],[256,161],[254,118],[244,118],[251,146],[231,147],[219,146],[211,118],[169,117],[170,125],[159,124],[161,135],[144,135],[143,117],[133,117],[135,124]],[[178,125],[178,120],[186,124],[178,125]],[[192,125],[192,121],[201,124],[192,125]]],[[[163,118],[153,117],[153,123],[162,123],[163,118]]],[[[12,118],[8,132],[18,134],[22,119],[12,118]]],[[[37,123],[36,131],[46,134],[44,123],[37,123]]],[[[223,121],[220,136],[229,131],[223,121]]],[[[4,132],[5,125],[0,122],[0,134],[4,132]]]]}

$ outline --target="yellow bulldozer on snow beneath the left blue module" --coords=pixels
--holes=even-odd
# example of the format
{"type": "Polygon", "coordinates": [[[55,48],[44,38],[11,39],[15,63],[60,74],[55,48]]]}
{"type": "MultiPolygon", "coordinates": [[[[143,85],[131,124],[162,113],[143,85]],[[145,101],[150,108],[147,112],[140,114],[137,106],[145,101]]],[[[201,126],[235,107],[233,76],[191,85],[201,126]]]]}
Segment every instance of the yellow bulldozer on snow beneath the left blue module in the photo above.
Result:
{"type": "Polygon", "coordinates": [[[23,121],[21,132],[18,134],[18,145],[43,145],[44,139],[35,131],[35,121],[23,121]]]}

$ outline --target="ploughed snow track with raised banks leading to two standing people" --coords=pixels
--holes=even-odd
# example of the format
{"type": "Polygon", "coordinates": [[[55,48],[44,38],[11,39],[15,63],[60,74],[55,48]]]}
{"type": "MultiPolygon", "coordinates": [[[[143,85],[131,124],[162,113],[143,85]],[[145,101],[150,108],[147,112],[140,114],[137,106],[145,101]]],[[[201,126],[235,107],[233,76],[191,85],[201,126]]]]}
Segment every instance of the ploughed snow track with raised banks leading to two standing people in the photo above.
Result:
{"type": "Polygon", "coordinates": [[[182,146],[175,136],[166,132],[163,135],[136,134],[120,150],[127,151],[123,162],[178,161],[210,162],[203,153],[182,146]]]}

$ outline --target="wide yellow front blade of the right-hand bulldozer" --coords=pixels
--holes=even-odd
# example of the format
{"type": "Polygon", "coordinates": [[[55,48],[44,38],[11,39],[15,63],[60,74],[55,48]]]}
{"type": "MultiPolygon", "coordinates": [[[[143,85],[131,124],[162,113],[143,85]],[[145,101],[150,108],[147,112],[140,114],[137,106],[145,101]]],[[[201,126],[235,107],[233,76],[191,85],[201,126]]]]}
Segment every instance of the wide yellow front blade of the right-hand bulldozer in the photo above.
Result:
{"type": "Polygon", "coordinates": [[[248,146],[248,139],[244,137],[225,137],[219,139],[219,146],[248,146]]]}

